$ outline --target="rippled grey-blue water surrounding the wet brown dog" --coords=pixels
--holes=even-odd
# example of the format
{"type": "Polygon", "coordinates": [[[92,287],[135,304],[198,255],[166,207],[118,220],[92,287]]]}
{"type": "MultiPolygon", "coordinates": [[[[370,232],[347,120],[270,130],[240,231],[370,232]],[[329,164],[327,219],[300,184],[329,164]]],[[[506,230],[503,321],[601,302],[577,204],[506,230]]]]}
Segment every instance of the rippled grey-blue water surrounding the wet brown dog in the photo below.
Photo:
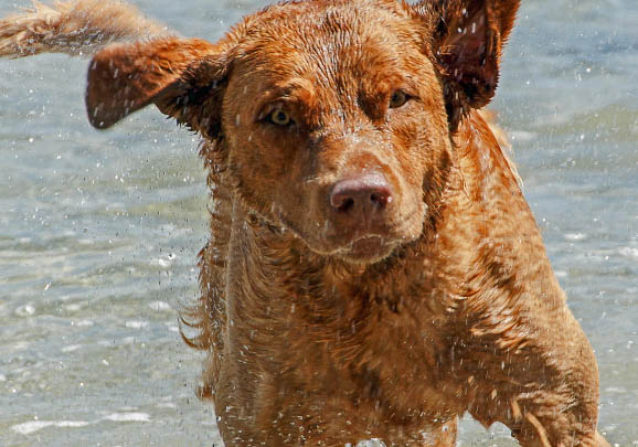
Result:
{"type": "MultiPolygon", "coordinates": [[[[214,40],[266,2],[136,3],[214,40]]],[[[523,0],[493,105],[618,446],[638,445],[637,24],[635,0],[523,0]]],[[[220,446],[176,311],[206,232],[196,138],[156,110],[92,129],[85,70],[0,61],[0,445],[220,446]]],[[[461,428],[459,445],[514,445],[461,428]]]]}

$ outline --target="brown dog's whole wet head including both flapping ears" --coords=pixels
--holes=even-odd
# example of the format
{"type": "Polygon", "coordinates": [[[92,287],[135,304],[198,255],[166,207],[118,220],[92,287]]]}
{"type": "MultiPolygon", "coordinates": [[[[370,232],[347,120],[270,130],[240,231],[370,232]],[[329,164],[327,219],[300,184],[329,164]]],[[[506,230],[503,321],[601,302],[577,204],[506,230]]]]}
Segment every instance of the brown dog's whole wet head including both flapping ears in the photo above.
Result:
{"type": "Polygon", "coordinates": [[[316,253],[373,263],[418,238],[453,169],[450,134],[495,94],[519,0],[308,0],[216,44],[107,47],[87,108],[148,104],[216,140],[241,202],[316,253]]]}

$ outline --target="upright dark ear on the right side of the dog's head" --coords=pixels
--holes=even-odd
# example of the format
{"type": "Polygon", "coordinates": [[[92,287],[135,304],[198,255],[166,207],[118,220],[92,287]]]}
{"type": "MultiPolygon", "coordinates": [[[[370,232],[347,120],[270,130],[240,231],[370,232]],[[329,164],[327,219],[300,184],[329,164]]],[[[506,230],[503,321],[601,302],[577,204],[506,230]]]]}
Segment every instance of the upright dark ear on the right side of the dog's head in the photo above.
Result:
{"type": "Polygon", "coordinates": [[[450,123],[486,106],[499,78],[501,51],[520,0],[423,0],[414,7],[427,20],[450,123]]]}

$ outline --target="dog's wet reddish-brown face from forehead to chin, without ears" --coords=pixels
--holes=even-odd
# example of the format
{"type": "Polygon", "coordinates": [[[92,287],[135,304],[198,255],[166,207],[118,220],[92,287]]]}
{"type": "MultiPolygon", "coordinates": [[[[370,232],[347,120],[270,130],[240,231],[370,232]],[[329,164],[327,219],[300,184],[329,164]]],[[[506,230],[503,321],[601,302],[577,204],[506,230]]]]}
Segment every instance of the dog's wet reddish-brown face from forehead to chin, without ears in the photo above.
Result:
{"type": "Polygon", "coordinates": [[[238,192],[319,254],[368,263],[417,238],[450,166],[442,85],[395,9],[275,9],[236,50],[222,119],[238,192]]]}

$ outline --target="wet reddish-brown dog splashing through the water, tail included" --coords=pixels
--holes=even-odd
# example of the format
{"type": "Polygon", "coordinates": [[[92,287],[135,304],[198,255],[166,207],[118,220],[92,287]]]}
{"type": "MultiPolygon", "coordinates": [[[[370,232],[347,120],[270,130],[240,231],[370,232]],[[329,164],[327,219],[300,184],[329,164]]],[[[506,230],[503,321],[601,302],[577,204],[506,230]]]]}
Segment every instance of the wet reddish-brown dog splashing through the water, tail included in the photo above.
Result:
{"type": "MultiPolygon", "coordinates": [[[[0,50],[161,30],[96,4],[76,3],[84,40],[0,25],[0,50]]],[[[478,111],[518,4],[289,2],[215,44],[95,55],[96,127],[155,104],[204,137],[215,207],[185,317],[227,447],[453,446],[466,411],[524,446],[607,445],[592,349],[478,111]]]]}

